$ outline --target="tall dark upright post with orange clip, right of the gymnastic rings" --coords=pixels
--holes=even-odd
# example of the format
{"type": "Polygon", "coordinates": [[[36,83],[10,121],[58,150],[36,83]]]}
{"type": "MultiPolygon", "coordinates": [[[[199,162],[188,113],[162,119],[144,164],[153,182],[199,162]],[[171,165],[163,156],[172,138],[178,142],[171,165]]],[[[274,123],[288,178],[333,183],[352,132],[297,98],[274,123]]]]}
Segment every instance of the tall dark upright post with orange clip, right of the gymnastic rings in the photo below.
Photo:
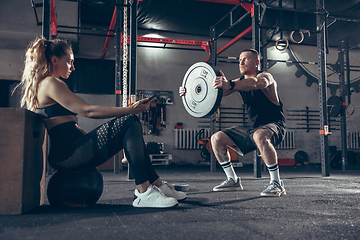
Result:
{"type": "Polygon", "coordinates": [[[327,79],[326,79],[326,18],[324,13],[324,0],[316,0],[317,26],[317,49],[318,49],[318,68],[319,68],[319,107],[320,107],[320,142],[321,142],[321,170],[322,176],[330,176],[329,164],[329,142],[328,142],[328,118],[327,118],[327,79]]]}

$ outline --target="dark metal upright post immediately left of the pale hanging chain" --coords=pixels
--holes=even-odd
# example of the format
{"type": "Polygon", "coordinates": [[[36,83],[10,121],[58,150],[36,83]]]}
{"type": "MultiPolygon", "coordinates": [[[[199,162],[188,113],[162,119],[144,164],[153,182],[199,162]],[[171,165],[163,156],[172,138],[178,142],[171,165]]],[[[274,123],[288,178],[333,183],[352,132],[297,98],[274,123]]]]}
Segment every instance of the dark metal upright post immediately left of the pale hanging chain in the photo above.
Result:
{"type": "MultiPolygon", "coordinates": [[[[116,0],[117,4],[121,4],[121,0],[116,0]]],[[[121,107],[121,19],[122,8],[116,7],[116,25],[115,25],[115,106],[121,107]]],[[[120,172],[120,154],[114,156],[114,173],[120,172]]]]}

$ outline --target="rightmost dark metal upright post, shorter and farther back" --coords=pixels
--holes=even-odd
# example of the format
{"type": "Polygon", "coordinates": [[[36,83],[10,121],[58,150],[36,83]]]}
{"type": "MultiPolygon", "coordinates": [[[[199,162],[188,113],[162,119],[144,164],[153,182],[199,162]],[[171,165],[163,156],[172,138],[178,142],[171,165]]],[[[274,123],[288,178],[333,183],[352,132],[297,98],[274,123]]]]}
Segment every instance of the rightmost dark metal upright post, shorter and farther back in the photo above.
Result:
{"type": "MultiPolygon", "coordinates": [[[[340,75],[339,75],[339,84],[340,84],[340,96],[342,102],[345,103],[346,97],[346,86],[345,86],[345,52],[346,52],[346,43],[345,40],[341,40],[340,46],[338,49],[338,59],[340,64],[340,75]]],[[[348,64],[347,64],[348,65],[348,64]]],[[[341,106],[340,111],[341,116],[341,159],[342,159],[342,170],[345,170],[348,159],[347,159],[347,136],[346,136],[346,114],[345,114],[345,106],[341,106]]]]}

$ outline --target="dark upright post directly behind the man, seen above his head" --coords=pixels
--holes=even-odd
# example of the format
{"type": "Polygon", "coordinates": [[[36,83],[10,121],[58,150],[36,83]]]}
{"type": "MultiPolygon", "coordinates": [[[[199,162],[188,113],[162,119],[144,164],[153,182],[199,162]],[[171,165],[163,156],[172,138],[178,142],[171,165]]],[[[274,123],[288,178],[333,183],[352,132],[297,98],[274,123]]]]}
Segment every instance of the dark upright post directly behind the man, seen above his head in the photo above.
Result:
{"type": "MultiPolygon", "coordinates": [[[[252,16],[252,48],[261,53],[260,49],[260,5],[254,3],[254,15],[252,16]]],[[[261,157],[257,150],[254,151],[254,177],[261,178],[261,157]]]]}

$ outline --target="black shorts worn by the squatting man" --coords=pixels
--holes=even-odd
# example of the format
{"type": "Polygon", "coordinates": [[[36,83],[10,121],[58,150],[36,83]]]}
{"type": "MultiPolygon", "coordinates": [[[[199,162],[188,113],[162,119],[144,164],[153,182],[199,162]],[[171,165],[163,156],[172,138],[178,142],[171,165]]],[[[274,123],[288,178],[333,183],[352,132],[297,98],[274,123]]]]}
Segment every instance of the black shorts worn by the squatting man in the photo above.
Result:
{"type": "Polygon", "coordinates": [[[271,134],[271,143],[274,147],[284,140],[286,127],[285,123],[282,121],[269,123],[257,128],[243,125],[225,128],[221,131],[224,132],[245,155],[257,149],[253,135],[258,129],[265,129],[271,134]]]}

